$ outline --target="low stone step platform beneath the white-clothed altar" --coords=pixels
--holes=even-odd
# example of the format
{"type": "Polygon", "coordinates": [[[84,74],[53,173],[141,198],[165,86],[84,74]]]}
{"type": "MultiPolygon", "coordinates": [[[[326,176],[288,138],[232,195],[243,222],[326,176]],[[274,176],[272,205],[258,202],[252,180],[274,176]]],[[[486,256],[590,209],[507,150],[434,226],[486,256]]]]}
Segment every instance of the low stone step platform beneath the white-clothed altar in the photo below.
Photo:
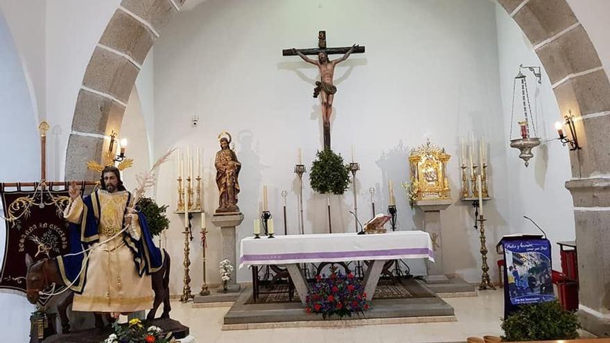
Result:
{"type": "Polygon", "coordinates": [[[248,287],[225,315],[223,330],[252,328],[286,328],[315,326],[354,326],[371,324],[405,324],[424,322],[453,322],[453,308],[426,288],[417,289],[417,297],[402,299],[373,299],[364,314],[352,317],[308,314],[298,301],[252,304],[252,288],[248,287]],[[423,291],[422,291],[423,290],[423,291]]]}

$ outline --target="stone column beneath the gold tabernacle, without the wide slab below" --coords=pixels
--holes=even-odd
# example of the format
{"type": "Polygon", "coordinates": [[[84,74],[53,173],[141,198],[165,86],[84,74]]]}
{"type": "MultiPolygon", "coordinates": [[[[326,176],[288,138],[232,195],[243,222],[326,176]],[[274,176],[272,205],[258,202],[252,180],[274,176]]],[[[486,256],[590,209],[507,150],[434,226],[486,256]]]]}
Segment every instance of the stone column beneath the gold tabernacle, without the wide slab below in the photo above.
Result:
{"type": "Polygon", "coordinates": [[[426,261],[428,276],[426,283],[448,283],[443,265],[441,211],[451,204],[451,200],[419,200],[415,206],[424,211],[424,231],[430,234],[434,251],[434,263],[426,261]]]}

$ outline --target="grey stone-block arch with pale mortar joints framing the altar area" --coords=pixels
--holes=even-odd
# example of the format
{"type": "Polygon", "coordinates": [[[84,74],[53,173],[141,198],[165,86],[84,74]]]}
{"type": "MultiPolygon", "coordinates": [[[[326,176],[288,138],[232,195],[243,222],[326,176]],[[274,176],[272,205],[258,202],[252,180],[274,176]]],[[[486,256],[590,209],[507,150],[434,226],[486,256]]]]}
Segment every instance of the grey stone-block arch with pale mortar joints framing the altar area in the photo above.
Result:
{"type": "MultiPolygon", "coordinates": [[[[67,148],[67,179],[95,179],[82,170],[101,159],[119,132],[125,103],[141,63],[185,0],[123,0],[92,55],[67,148]],[[68,158],[69,157],[69,158],[68,158]]],[[[561,114],[571,111],[582,150],[570,152],[579,254],[581,318],[587,330],[610,335],[610,82],[586,30],[566,0],[498,0],[530,39],[546,69],[561,114]],[[607,255],[607,254],[606,254],[607,255]]]]}

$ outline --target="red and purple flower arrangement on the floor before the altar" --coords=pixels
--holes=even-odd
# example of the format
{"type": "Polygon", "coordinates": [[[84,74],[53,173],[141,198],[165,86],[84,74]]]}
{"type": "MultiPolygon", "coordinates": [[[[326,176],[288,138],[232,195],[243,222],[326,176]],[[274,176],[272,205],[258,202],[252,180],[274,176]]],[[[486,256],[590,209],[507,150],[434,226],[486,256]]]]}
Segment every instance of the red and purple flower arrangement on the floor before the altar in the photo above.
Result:
{"type": "Polygon", "coordinates": [[[369,309],[367,294],[354,274],[331,271],[328,278],[315,277],[306,298],[306,313],[322,313],[326,319],[331,315],[351,317],[352,313],[364,313],[369,309]]]}

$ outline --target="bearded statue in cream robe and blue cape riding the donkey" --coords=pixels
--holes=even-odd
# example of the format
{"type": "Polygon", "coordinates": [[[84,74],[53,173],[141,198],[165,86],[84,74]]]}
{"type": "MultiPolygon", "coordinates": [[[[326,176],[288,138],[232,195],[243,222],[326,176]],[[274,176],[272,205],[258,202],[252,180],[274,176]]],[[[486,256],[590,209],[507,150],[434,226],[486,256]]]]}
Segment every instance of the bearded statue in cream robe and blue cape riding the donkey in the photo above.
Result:
{"type": "Polygon", "coordinates": [[[100,182],[101,189],[86,197],[75,182],[69,188],[64,217],[71,223],[71,254],[59,256],[58,267],[75,292],[72,310],[118,317],[152,308],[150,274],[165,256],[153,243],[146,218],[134,211],[119,169],[104,168],[100,182]],[[92,249],[78,254],[87,248],[92,249]]]}

